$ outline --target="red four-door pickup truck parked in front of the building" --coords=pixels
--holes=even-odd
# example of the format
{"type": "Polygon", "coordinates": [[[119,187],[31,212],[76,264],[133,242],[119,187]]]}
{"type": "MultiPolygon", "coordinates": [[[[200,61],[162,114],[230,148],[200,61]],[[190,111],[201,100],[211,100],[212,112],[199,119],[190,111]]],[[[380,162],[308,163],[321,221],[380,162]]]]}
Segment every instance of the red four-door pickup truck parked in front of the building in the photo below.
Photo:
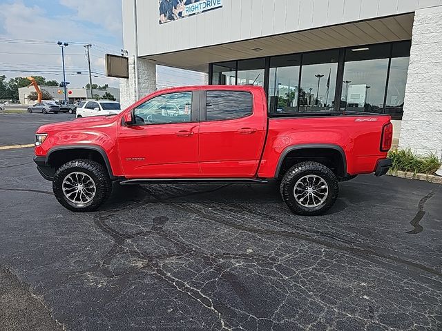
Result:
{"type": "Polygon", "coordinates": [[[112,116],[41,126],[35,163],[64,207],[95,210],[120,185],[280,181],[296,214],[316,215],[338,181],[392,165],[390,116],[267,112],[258,86],[160,90],[112,116]]]}

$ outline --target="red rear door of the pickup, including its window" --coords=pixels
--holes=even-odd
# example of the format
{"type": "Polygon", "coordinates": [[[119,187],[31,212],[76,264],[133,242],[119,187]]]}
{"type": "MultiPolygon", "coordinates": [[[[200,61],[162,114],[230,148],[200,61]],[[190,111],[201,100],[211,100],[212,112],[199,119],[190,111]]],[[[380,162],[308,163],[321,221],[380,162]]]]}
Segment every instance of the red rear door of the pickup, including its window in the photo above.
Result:
{"type": "Polygon", "coordinates": [[[267,126],[264,104],[253,98],[252,91],[202,92],[200,167],[204,177],[255,177],[267,126]]]}

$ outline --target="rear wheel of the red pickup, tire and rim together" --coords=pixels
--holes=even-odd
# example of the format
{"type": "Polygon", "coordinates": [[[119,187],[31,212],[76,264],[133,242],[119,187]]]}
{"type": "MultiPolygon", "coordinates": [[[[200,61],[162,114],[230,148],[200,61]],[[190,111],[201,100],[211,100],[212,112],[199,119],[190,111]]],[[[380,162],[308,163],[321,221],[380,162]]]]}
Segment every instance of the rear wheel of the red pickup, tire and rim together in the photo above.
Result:
{"type": "Polygon", "coordinates": [[[301,162],[291,167],[282,178],[282,199],[292,212],[314,216],[323,214],[338,199],[336,175],[317,162],[301,162]]]}

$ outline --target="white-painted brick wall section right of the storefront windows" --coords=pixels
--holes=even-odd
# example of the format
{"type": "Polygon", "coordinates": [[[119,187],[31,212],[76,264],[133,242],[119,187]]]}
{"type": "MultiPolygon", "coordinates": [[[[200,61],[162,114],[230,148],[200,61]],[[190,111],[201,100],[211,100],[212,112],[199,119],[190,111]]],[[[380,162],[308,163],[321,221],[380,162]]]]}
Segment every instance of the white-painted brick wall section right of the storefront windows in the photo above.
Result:
{"type": "Polygon", "coordinates": [[[414,16],[399,147],[442,157],[442,6],[414,16]]]}

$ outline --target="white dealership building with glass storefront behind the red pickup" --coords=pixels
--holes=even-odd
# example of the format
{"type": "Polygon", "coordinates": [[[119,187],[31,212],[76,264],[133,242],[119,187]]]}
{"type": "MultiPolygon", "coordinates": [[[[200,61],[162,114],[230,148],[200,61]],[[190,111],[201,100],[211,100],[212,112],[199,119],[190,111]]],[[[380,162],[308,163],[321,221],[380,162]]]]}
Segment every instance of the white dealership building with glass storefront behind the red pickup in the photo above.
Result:
{"type": "Polygon", "coordinates": [[[176,2],[122,1],[123,106],[158,64],[262,86],[269,112],[391,114],[399,147],[442,155],[442,0],[176,2]]]}

